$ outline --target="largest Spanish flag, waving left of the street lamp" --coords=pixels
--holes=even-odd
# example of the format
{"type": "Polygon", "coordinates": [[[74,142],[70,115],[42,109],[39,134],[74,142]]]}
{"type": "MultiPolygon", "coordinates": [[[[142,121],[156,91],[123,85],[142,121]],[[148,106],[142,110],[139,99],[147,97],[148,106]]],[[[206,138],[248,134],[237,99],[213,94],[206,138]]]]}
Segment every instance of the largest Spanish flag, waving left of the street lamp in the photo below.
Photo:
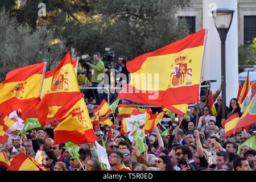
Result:
{"type": "Polygon", "coordinates": [[[127,62],[131,81],[118,98],[146,105],[199,102],[207,29],[127,62]]]}

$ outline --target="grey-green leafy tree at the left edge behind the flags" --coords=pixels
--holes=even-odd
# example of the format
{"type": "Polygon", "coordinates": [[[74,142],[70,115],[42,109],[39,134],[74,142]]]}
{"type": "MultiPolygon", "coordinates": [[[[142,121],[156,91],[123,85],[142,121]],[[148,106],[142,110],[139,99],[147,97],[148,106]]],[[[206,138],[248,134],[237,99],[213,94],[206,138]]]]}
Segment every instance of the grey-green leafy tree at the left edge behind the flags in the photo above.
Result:
{"type": "Polygon", "coordinates": [[[55,68],[57,61],[67,51],[64,45],[53,44],[53,32],[46,26],[33,30],[26,24],[20,24],[5,9],[0,10],[0,81],[7,72],[30,64],[48,61],[47,49],[51,48],[51,64],[55,68]]]}

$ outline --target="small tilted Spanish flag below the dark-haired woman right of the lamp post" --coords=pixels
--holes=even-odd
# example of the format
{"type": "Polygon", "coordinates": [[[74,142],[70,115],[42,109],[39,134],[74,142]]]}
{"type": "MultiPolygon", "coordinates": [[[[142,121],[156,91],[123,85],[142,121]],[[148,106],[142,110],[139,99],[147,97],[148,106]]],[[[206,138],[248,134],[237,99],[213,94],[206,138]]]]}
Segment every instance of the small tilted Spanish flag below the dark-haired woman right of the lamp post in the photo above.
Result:
{"type": "Polygon", "coordinates": [[[237,125],[238,121],[239,115],[235,113],[222,123],[222,127],[225,129],[225,138],[234,133],[234,127],[237,125]]]}

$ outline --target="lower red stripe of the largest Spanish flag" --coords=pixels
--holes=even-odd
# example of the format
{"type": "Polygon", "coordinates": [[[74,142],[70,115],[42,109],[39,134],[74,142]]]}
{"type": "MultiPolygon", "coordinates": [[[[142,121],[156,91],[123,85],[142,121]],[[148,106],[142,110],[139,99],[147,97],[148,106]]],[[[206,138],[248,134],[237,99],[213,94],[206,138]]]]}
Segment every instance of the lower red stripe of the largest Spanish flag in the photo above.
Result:
{"type": "Polygon", "coordinates": [[[170,106],[184,103],[199,102],[199,84],[192,86],[182,86],[179,88],[168,88],[166,91],[158,92],[158,98],[149,100],[149,96],[154,93],[150,91],[141,91],[131,85],[125,85],[118,98],[134,101],[140,104],[156,105],[156,106],[170,106]],[[128,93],[126,90],[133,90],[133,93],[128,93]],[[125,91],[126,93],[123,93],[125,91]],[[143,92],[143,93],[142,93],[143,92]],[[146,93],[145,93],[146,92],[146,93]]]}

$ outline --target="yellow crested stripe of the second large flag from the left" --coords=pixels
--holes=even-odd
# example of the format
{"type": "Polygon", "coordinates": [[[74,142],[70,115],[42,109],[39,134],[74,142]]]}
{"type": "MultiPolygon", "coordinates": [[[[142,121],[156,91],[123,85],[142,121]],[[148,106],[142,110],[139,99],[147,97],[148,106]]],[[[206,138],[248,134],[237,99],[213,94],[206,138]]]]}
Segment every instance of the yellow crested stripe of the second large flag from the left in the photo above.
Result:
{"type": "MultiPolygon", "coordinates": [[[[64,65],[58,73],[59,73],[58,76],[63,75],[64,80],[61,80],[61,82],[59,81],[59,84],[58,84],[59,87],[57,87],[56,85],[52,86],[52,90],[51,90],[52,77],[44,79],[41,98],[46,93],[80,92],[79,85],[78,85],[77,78],[76,78],[76,74],[75,74],[75,69],[74,69],[72,64],[64,65]]],[[[53,80],[53,82],[55,80],[53,80]]]]}

